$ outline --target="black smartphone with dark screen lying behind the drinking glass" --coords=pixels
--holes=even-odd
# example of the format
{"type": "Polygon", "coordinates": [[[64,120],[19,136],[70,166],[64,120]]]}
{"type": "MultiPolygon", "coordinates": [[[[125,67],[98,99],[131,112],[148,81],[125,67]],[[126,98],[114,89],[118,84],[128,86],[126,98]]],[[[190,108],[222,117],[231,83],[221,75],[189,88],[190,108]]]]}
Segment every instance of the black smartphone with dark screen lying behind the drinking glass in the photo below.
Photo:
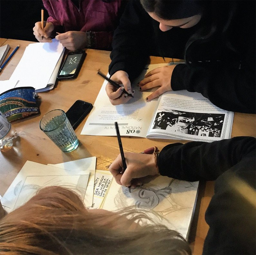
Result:
{"type": "Polygon", "coordinates": [[[92,104],[77,100],[74,104],[67,110],[66,115],[71,123],[71,126],[75,130],[78,125],[82,122],[82,120],[86,117],[86,115],[92,109],[92,104]]]}

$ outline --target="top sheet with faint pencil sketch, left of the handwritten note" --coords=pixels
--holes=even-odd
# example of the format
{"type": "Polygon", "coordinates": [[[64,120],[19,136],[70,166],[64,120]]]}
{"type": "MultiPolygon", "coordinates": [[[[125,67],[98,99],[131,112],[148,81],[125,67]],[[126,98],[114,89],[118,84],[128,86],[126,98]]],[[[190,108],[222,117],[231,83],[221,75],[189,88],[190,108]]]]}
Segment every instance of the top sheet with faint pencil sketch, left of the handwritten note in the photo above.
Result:
{"type": "Polygon", "coordinates": [[[65,170],[53,166],[27,161],[5,192],[3,206],[7,213],[23,205],[38,189],[47,186],[63,186],[85,197],[90,171],[65,170]]]}

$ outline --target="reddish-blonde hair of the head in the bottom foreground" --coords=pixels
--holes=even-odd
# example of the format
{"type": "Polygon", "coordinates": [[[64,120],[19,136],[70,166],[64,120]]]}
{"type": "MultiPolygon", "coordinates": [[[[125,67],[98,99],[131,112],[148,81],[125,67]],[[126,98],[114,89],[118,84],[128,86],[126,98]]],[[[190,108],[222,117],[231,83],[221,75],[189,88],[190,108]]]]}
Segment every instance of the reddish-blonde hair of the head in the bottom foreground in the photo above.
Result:
{"type": "Polygon", "coordinates": [[[129,209],[89,212],[70,189],[47,187],[1,220],[0,253],[191,254],[184,238],[163,225],[132,229],[141,218],[148,217],[129,209]]]}

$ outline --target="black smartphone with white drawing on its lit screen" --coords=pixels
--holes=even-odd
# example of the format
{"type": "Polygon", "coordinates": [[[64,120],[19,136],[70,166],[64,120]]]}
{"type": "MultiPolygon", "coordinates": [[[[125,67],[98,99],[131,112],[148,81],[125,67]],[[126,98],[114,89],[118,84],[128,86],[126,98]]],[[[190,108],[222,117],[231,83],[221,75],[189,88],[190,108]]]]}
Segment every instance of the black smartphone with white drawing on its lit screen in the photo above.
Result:
{"type": "Polygon", "coordinates": [[[86,55],[87,54],[84,50],[69,52],[57,78],[59,80],[75,79],[79,74],[86,55]]]}

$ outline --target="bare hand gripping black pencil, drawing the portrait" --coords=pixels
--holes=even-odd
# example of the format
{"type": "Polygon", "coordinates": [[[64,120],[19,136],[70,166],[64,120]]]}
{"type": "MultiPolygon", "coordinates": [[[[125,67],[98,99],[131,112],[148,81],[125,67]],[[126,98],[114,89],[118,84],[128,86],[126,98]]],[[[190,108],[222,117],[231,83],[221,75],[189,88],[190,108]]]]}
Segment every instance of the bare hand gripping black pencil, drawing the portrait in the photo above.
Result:
{"type": "Polygon", "coordinates": [[[138,178],[159,174],[154,154],[127,152],[124,156],[127,165],[124,173],[121,173],[123,164],[120,154],[109,166],[109,171],[112,173],[118,184],[127,187],[136,187],[138,184],[141,184],[141,180],[138,178]]]}

